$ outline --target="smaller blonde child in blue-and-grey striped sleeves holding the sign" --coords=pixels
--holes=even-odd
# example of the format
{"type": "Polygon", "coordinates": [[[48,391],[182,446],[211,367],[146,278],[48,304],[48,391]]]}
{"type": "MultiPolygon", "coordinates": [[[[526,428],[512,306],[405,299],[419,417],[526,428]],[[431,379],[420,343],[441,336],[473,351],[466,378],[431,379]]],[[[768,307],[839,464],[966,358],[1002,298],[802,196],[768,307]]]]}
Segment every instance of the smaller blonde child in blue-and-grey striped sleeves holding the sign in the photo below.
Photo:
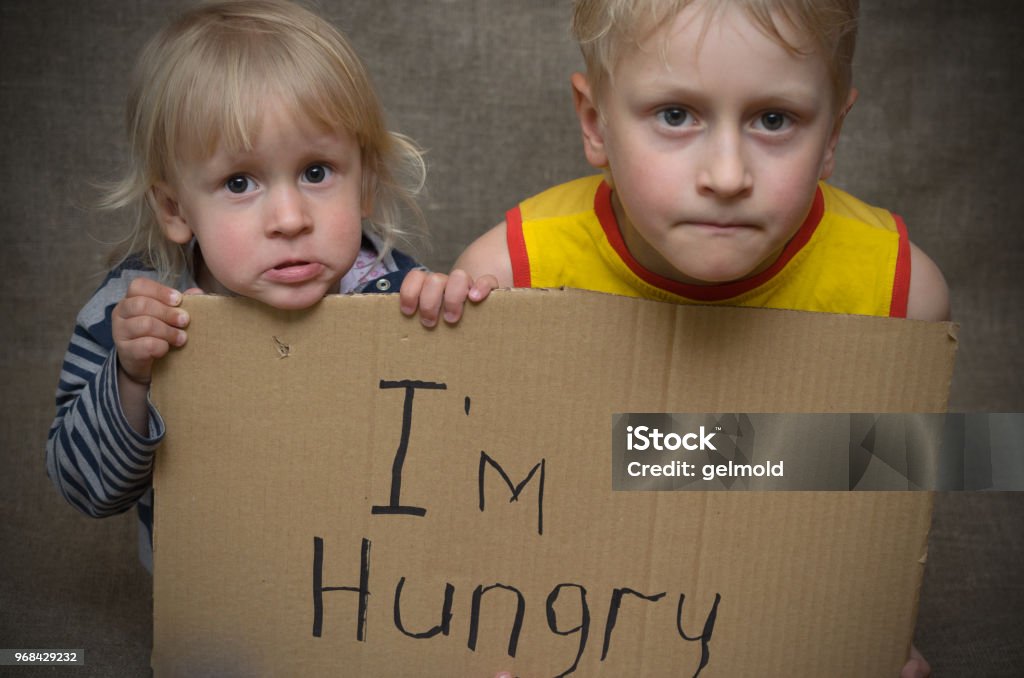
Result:
{"type": "MultiPolygon", "coordinates": [[[[204,4],[165,28],[139,57],[127,123],[130,168],[104,204],[130,210],[134,227],[78,315],[46,463],[88,515],[136,506],[152,568],[164,422],[150,379],[185,343],[182,293],[305,308],[326,294],[397,292],[421,269],[392,246],[402,207],[419,215],[424,165],[385,129],[345,38],[286,0],[204,4]]],[[[468,279],[445,290],[417,276],[425,323],[442,297],[461,311],[468,279]]]]}

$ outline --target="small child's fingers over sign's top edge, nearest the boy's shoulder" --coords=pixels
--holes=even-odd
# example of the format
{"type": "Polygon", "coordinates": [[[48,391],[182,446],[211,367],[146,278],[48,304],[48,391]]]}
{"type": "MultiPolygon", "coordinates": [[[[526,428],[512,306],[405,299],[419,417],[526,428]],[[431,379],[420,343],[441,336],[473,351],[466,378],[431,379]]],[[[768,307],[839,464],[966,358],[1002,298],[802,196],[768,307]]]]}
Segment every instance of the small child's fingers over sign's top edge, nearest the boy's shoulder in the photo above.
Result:
{"type": "Polygon", "coordinates": [[[466,299],[483,301],[497,287],[498,279],[494,276],[481,276],[474,283],[469,273],[459,268],[451,276],[413,270],[406,276],[398,296],[401,312],[415,315],[419,309],[420,322],[429,328],[437,325],[442,308],[445,323],[458,323],[466,299]]]}

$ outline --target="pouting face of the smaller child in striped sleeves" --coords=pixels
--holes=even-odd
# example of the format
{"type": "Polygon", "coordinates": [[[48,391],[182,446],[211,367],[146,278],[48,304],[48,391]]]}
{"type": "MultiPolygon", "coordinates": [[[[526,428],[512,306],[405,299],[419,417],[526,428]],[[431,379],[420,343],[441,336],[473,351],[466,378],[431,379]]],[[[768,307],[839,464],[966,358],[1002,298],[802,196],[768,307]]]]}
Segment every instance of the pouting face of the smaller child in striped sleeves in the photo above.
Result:
{"type": "Polygon", "coordinates": [[[360,151],[268,105],[251,151],[223,146],[184,161],[157,186],[165,235],[195,236],[203,255],[197,283],[278,308],[305,308],[337,289],[361,243],[360,151]]]}

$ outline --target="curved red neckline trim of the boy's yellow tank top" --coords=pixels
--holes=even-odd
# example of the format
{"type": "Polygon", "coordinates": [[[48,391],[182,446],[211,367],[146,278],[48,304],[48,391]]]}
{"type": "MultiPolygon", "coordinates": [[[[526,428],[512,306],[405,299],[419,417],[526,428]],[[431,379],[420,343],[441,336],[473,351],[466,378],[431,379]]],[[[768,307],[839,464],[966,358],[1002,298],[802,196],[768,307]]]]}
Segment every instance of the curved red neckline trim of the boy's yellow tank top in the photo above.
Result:
{"type": "Polygon", "coordinates": [[[771,266],[757,276],[736,281],[734,283],[726,283],[724,285],[690,285],[688,283],[680,283],[679,281],[665,278],[648,270],[639,261],[633,258],[629,248],[626,247],[626,242],[623,240],[622,231],[618,228],[618,220],[615,219],[615,211],[611,207],[611,188],[608,186],[607,182],[602,181],[594,196],[594,211],[597,212],[597,218],[601,222],[604,235],[608,239],[608,243],[611,245],[612,249],[614,249],[618,254],[620,258],[622,258],[626,265],[630,267],[630,270],[632,270],[640,280],[644,281],[648,285],[653,285],[654,287],[667,292],[697,301],[721,301],[722,299],[730,299],[745,292],[750,292],[751,290],[767,283],[780,270],[782,270],[790,260],[793,259],[793,257],[796,256],[796,254],[800,252],[800,250],[802,250],[811,240],[811,236],[814,235],[814,230],[818,227],[818,223],[821,222],[821,216],[824,214],[824,196],[821,194],[821,187],[818,186],[814,192],[814,202],[811,205],[811,211],[807,214],[807,218],[804,219],[804,223],[801,224],[800,229],[797,230],[797,234],[790,239],[788,243],[786,243],[785,248],[782,250],[778,259],[776,259],[771,266]]]}

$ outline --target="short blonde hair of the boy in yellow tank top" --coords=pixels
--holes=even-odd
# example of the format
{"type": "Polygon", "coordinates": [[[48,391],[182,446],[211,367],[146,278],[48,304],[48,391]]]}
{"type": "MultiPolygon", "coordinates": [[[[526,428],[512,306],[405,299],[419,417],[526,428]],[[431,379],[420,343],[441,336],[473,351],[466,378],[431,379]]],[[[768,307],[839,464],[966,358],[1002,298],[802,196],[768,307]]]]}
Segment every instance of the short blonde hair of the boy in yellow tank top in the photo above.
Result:
{"type": "MultiPolygon", "coordinates": [[[[574,0],[572,35],[580,43],[587,78],[595,99],[608,85],[623,54],[670,23],[698,0],[574,0]]],[[[786,50],[800,53],[782,37],[777,22],[790,24],[809,38],[825,57],[834,86],[837,115],[852,86],[853,51],[857,41],[859,0],[701,0],[705,30],[717,12],[740,7],[755,26],[786,50]]]]}

